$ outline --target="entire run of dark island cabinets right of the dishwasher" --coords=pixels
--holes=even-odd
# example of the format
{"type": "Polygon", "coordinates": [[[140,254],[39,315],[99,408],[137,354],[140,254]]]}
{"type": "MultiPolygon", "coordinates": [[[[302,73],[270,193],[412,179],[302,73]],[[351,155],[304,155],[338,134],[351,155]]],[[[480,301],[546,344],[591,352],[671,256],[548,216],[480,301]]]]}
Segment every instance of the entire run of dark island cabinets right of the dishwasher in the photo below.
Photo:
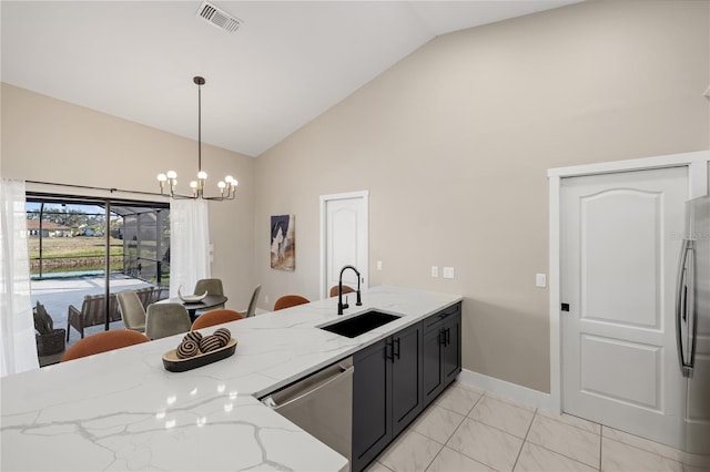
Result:
{"type": "Polygon", "coordinates": [[[462,371],[462,304],[353,355],[353,456],[369,464],[462,371]]]}

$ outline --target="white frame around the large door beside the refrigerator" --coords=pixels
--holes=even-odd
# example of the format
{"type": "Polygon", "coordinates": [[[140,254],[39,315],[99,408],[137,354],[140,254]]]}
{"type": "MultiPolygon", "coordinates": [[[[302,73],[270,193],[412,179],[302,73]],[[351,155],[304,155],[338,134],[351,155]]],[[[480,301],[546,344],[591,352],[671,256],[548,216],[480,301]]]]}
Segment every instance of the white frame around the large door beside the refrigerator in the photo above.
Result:
{"type": "Polygon", "coordinates": [[[688,167],[688,199],[707,195],[710,151],[669,154],[628,161],[557,167],[547,171],[549,185],[549,322],[550,322],[550,398],[549,410],[562,411],[561,322],[560,322],[560,184],[562,178],[584,175],[648,171],[666,167],[688,167]]]}

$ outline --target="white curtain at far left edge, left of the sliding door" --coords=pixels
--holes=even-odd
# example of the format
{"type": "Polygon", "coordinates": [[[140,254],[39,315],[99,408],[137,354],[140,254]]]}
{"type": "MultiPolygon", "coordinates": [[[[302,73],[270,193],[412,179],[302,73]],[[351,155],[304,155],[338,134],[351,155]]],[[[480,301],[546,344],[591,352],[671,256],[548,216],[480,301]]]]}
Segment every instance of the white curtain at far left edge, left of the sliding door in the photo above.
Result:
{"type": "Polygon", "coordinates": [[[39,368],[30,300],[24,182],[0,181],[0,377],[39,368]]]}

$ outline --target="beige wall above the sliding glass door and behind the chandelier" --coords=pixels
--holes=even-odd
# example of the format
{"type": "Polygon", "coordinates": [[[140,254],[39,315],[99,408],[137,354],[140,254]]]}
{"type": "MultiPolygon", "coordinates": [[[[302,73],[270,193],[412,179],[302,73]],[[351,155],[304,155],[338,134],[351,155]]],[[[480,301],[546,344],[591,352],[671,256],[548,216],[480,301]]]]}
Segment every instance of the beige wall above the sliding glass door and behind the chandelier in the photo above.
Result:
{"type": "MultiPolygon", "coordinates": [[[[179,186],[186,192],[189,176],[196,174],[195,141],[6,83],[1,93],[3,177],[158,192],[156,175],[174,170],[179,178],[182,176],[179,186]]],[[[227,307],[246,308],[254,280],[254,160],[209,145],[203,145],[202,153],[203,168],[215,177],[213,183],[226,174],[240,181],[236,201],[210,203],[210,234],[214,245],[212,275],[224,281],[227,307]]],[[[95,191],[54,189],[109,196],[95,191]]]]}

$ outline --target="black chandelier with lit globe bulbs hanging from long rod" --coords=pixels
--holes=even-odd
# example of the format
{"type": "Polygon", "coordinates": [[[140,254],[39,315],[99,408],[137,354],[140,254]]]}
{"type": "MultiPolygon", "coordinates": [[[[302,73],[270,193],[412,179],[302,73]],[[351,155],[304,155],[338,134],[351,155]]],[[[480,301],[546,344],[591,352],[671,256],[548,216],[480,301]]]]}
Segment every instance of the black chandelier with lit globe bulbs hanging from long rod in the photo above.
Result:
{"type": "Polygon", "coordinates": [[[236,196],[236,178],[227,175],[224,181],[217,182],[217,188],[220,189],[220,196],[205,196],[204,186],[207,179],[207,173],[202,171],[202,85],[205,84],[204,78],[195,76],[193,82],[197,84],[197,179],[190,183],[192,188],[192,195],[180,195],[175,193],[178,186],[178,173],[175,171],[168,171],[165,174],[158,175],[158,182],[160,184],[160,193],[165,194],[165,186],[170,189],[170,196],[173,198],[202,198],[202,199],[234,199],[236,196]]]}

